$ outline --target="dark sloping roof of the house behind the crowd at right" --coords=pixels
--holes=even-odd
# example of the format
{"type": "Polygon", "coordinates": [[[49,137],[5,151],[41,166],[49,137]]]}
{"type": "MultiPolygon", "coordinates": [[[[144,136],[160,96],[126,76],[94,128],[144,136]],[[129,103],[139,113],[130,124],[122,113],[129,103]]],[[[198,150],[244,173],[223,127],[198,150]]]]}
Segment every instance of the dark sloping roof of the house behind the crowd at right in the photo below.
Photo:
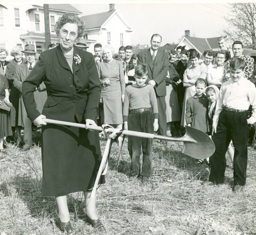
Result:
{"type": "Polygon", "coordinates": [[[184,36],[193,46],[195,46],[201,53],[204,53],[205,50],[218,48],[218,38],[195,38],[195,37],[188,37],[184,36]]]}

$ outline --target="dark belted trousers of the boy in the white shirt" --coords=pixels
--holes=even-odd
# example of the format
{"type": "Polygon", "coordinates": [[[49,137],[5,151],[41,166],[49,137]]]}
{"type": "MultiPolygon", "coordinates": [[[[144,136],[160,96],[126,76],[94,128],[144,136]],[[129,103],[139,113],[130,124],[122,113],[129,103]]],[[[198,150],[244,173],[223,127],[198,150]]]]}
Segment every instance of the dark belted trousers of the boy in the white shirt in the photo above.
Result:
{"type": "Polygon", "coordinates": [[[221,111],[217,132],[212,140],[215,152],[210,157],[209,181],[217,184],[224,182],[226,169],[225,154],[232,140],[234,154],[234,185],[245,185],[247,168],[247,142],[248,142],[247,112],[221,111]]]}

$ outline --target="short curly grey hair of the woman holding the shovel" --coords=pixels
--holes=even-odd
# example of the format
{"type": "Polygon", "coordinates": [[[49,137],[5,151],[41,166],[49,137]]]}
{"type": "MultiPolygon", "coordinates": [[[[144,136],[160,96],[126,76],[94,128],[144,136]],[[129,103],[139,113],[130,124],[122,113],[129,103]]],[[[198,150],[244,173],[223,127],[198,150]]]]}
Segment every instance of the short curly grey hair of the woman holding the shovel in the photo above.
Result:
{"type": "Polygon", "coordinates": [[[77,38],[81,38],[84,35],[84,30],[85,30],[84,22],[80,20],[77,15],[73,15],[70,13],[64,13],[61,17],[59,17],[58,21],[54,26],[55,33],[59,35],[59,30],[63,25],[67,23],[76,24],[78,26],[77,38]]]}

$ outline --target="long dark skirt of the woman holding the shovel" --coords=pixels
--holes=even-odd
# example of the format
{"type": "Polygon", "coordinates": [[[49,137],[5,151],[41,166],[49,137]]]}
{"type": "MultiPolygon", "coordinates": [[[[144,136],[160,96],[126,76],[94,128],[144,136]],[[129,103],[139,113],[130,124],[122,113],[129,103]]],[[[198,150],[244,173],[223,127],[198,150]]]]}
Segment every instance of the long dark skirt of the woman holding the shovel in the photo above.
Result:
{"type": "MultiPolygon", "coordinates": [[[[98,131],[47,124],[42,127],[45,196],[62,196],[93,188],[101,162],[98,131]]],[[[104,183],[101,176],[99,184],[104,183]]]]}

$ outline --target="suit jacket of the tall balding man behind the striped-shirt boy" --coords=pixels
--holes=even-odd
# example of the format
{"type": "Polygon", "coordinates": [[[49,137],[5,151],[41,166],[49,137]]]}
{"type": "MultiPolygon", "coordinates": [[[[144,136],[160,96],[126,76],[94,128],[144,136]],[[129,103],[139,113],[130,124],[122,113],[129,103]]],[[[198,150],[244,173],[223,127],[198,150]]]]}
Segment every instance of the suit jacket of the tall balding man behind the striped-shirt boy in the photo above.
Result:
{"type": "Polygon", "coordinates": [[[138,55],[138,63],[147,65],[148,69],[148,80],[154,80],[156,82],[155,90],[158,97],[166,95],[165,77],[169,66],[168,54],[164,51],[156,53],[154,59],[154,65],[152,64],[152,56],[150,49],[142,51],[138,55]]]}

